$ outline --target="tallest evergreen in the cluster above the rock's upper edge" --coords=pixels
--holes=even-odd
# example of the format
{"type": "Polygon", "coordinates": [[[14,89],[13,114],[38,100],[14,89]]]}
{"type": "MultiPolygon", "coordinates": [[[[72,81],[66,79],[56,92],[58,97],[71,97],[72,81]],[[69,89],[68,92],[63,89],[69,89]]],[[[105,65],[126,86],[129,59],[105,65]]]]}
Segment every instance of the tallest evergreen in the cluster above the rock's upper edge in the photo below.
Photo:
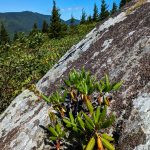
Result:
{"type": "Polygon", "coordinates": [[[105,2],[105,0],[102,0],[100,20],[104,20],[108,16],[109,16],[109,11],[107,10],[106,2],[105,2]]]}

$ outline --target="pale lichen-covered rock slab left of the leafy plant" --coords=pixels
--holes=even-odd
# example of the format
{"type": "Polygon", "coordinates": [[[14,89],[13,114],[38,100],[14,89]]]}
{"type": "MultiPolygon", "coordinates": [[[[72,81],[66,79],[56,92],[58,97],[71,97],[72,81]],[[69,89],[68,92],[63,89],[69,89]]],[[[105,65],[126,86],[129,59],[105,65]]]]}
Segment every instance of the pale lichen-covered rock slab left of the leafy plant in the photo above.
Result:
{"type": "MultiPolygon", "coordinates": [[[[15,138],[10,141],[10,149],[25,150],[26,146],[32,149],[39,141],[37,134],[41,134],[40,125],[48,124],[48,107],[43,101],[37,102],[38,97],[33,92],[25,90],[11,103],[0,116],[0,137],[3,138],[16,130],[15,138]],[[44,117],[43,117],[44,116],[44,117]],[[29,145],[29,142],[32,144],[29,145]]],[[[43,139],[42,139],[43,140],[43,139]]],[[[4,139],[5,141],[5,139],[4,139]]],[[[3,141],[3,142],[4,142],[3,141]]],[[[28,149],[27,148],[27,149],[28,149]]],[[[29,149],[28,149],[29,150],[29,149]]]]}

